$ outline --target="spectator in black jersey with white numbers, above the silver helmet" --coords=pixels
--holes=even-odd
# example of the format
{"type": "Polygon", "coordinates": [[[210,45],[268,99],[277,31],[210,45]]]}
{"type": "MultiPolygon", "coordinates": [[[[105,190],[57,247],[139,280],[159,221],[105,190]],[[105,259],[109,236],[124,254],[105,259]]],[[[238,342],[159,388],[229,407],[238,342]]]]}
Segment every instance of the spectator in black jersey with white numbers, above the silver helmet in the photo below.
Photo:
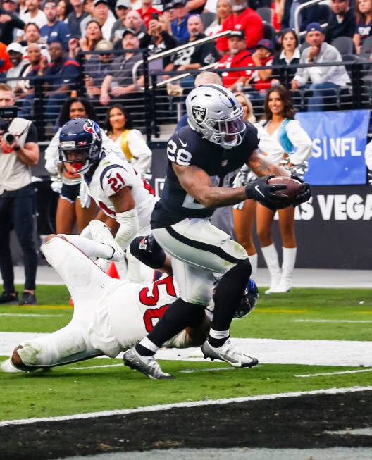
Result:
{"type": "MultiPolygon", "coordinates": [[[[190,39],[185,40],[182,44],[195,42],[205,37],[203,23],[199,15],[190,15],[187,20],[187,30],[189,31],[190,39]]],[[[209,42],[177,51],[175,56],[172,56],[172,59],[171,70],[197,70],[202,66],[216,62],[218,52],[214,44],[209,42]]]]}

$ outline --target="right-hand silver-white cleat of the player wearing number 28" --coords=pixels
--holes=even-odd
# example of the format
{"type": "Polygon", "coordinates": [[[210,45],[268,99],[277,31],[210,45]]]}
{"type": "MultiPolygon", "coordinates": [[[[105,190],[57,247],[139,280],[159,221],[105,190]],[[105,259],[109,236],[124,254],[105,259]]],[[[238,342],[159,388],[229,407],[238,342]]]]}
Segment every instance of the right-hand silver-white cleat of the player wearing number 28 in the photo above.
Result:
{"type": "Polygon", "coordinates": [[[223,346],[218,348],[212,347],[208,340],[206,340],[202,344],[202,352],[204,359],[211,358],[212,361],[221,359],[221,361],[225,361],[236,368],[253,367],[259,363],[258,359],[252,358],[242,350],[235,348],[230,339],[226,340],[223,346]]]}

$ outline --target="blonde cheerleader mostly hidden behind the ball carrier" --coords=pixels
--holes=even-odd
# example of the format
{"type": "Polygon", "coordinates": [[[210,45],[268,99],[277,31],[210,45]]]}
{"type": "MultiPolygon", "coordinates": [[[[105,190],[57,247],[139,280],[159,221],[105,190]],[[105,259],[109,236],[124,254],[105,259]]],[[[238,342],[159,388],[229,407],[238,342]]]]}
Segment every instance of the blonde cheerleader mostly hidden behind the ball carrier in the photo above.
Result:
{"type": "MultiPolygon", "coordinates": [[[[261,151],[270,151],[275,158],[283,158],[284,150],[277,140],[269,136],[266,130],[256,123],[256,117],[253,114],[252,103],[244,93],[235,93],[237,101],[244,110],[243,119],[253,123],[259,134],[259,148],[261,151]]],[[[256,175],[248,168],[243,166],[235,180],[235,187],[247,185],[251,180],[255,180],[256,175]]],[[[234,228],[237,242],[247,251],[249,261],[252,266],[252,278],[257,274],[257,251],[253,241],[253,223],[256,213],[256,201],[247,199],[233,207],[234,228]]]]}

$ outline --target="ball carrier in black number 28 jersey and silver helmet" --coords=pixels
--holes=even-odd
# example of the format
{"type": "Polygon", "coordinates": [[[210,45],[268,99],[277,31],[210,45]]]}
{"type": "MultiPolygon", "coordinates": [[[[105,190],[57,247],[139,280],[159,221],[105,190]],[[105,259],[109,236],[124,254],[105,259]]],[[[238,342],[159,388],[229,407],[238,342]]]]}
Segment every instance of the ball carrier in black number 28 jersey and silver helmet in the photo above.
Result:
{"type": "Polygon", "coordinates": [[[258,363],[229,339],[230,323],[251,274],[247,252],[209,218],[217,207],[245,199],[281,209],[307,201],[311,195],[306,183],[292,198],[276,193],[285,185],[268,184],[268,175],[290,173],[259,154],[257,130],[243,122],[242,106],[228,89],[199,86],[187,96],[186,108],[189,126],[175,132],[168,142],[163,196],[151,216],[156,241],[171,255],[180,299],[147,337],[124,354],[125,364],[152,378],[172,377],[161,371],[154,354],[180,330],[198,324],[212,296],[215,308],[208,340],[202,346],[204,357],[237,368],[258,363]],[[246,187],[230,188],[244,163],[266,177],[246,187]],[[223,274],[214,294],[213,273],[223,274]]]}

